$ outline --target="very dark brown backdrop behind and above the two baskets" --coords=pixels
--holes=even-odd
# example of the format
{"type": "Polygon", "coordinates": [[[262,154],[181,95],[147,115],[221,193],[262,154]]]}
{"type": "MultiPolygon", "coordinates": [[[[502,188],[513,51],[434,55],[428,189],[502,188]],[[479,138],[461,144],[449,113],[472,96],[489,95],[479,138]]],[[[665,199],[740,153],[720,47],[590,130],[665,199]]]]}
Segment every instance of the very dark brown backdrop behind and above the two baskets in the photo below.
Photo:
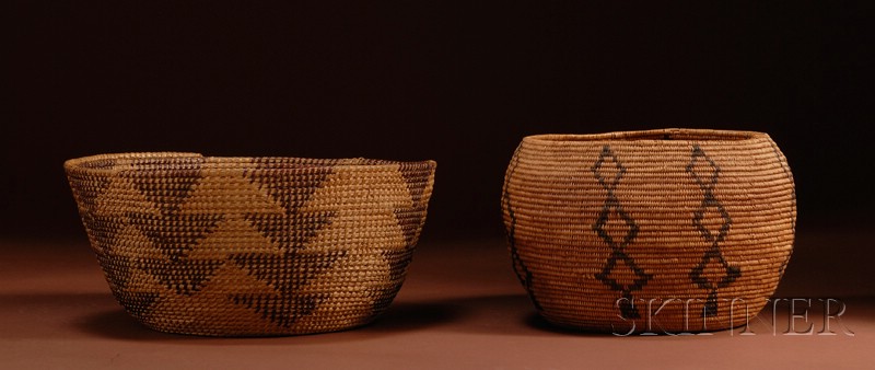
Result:
{"type": "Polygon", "coordinates": [[[434,159],[423,238],[500,236],[523,136],[658,127],[767,131],[800,229],[872,221],[867,4],[3,8],[3,235],[84,239],[65,159],[179,150],[434,159]]]}

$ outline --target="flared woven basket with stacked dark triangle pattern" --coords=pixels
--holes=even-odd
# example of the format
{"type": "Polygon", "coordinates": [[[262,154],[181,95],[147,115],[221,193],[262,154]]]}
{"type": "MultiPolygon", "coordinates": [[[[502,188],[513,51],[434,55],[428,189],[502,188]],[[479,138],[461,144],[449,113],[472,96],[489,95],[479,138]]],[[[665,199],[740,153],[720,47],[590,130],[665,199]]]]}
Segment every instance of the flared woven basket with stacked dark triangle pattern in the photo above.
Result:
{"type": "Polygon", "coordinates": [[[115,298],[156,331],[320,333],[401,287],[435,162],[127,153],[65,163],[115,298]]]}

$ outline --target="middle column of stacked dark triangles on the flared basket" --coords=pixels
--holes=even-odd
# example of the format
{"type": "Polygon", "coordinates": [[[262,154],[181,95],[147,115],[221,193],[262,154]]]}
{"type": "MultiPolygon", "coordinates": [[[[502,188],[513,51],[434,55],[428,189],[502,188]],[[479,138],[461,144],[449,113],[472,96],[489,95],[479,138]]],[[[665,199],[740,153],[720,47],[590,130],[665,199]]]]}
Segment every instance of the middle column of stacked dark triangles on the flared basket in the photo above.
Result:
{"type": "Polygon", "coordinates": [[[265,190],[282,212],[250,213],[246,220],[277,246],[271,253],[232,255],[231,259],[273,293],[233,294],[230,299],[283,328],[312,314],[329,298],[327,293],[304,292],[310,281],[329,270],[346,256],[345,251],[311,252],[306,245],[331,223],[334,211],[304,211],[313,194],[332,173],[331,166],[304,165],[255,159],[256,170],[247,177],[265,190]]]}

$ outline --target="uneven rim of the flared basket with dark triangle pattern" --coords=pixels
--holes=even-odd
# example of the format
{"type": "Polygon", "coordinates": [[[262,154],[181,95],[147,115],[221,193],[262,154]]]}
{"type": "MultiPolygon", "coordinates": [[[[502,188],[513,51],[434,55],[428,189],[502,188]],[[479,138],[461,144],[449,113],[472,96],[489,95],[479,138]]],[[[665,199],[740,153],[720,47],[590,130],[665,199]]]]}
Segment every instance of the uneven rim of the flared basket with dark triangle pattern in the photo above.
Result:
{"type": "Polygon", "coordinates": [[[253,160],[276,160],[276,161],[300,161],[300,163],[289,163],[288,165],[279,167],[258,169],[259,172],[266,173],[295,173],[308,172],[317,169],[385,169],[395,171],[398,165],[412,165],[424,166],[434,171],[438,162],[433,160],[423,161],[392,161],[369,158],[303,158],[303,157],[222,157],[222,155],[203,155],[196,152],[119,152],[119,153],[104,153],[80,157],[69,159],[63,162],[66,171],[84,171],[93,174],[116,174],[120,172],[149,172],[149,173],[178,173],[179,171],[192,170],[185,165],[185,162],[175,163],[138,163],[135,167],[133,161],[138,160],[163,160],[163,159],[199,159],[210,161],[211,165],[205,170],[212,172],[225,171],[240,171],[244,167],[249,167],[253,160]],[[106,161],[120,161],[107,162],[106,161]]]}

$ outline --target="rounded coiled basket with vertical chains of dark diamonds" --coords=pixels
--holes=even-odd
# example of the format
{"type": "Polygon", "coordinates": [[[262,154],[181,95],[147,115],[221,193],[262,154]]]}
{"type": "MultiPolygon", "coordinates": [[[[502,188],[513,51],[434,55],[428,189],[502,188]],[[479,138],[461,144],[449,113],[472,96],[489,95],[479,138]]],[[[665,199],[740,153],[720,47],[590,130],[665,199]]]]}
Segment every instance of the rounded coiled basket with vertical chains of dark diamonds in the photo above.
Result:
{"type": "Polygon", "coordinates": [[[539,313],[615,334],[746,324],[783,275],[796,219],[774,142],[723,130],[526,137],[502,208],[539,313]]]}

